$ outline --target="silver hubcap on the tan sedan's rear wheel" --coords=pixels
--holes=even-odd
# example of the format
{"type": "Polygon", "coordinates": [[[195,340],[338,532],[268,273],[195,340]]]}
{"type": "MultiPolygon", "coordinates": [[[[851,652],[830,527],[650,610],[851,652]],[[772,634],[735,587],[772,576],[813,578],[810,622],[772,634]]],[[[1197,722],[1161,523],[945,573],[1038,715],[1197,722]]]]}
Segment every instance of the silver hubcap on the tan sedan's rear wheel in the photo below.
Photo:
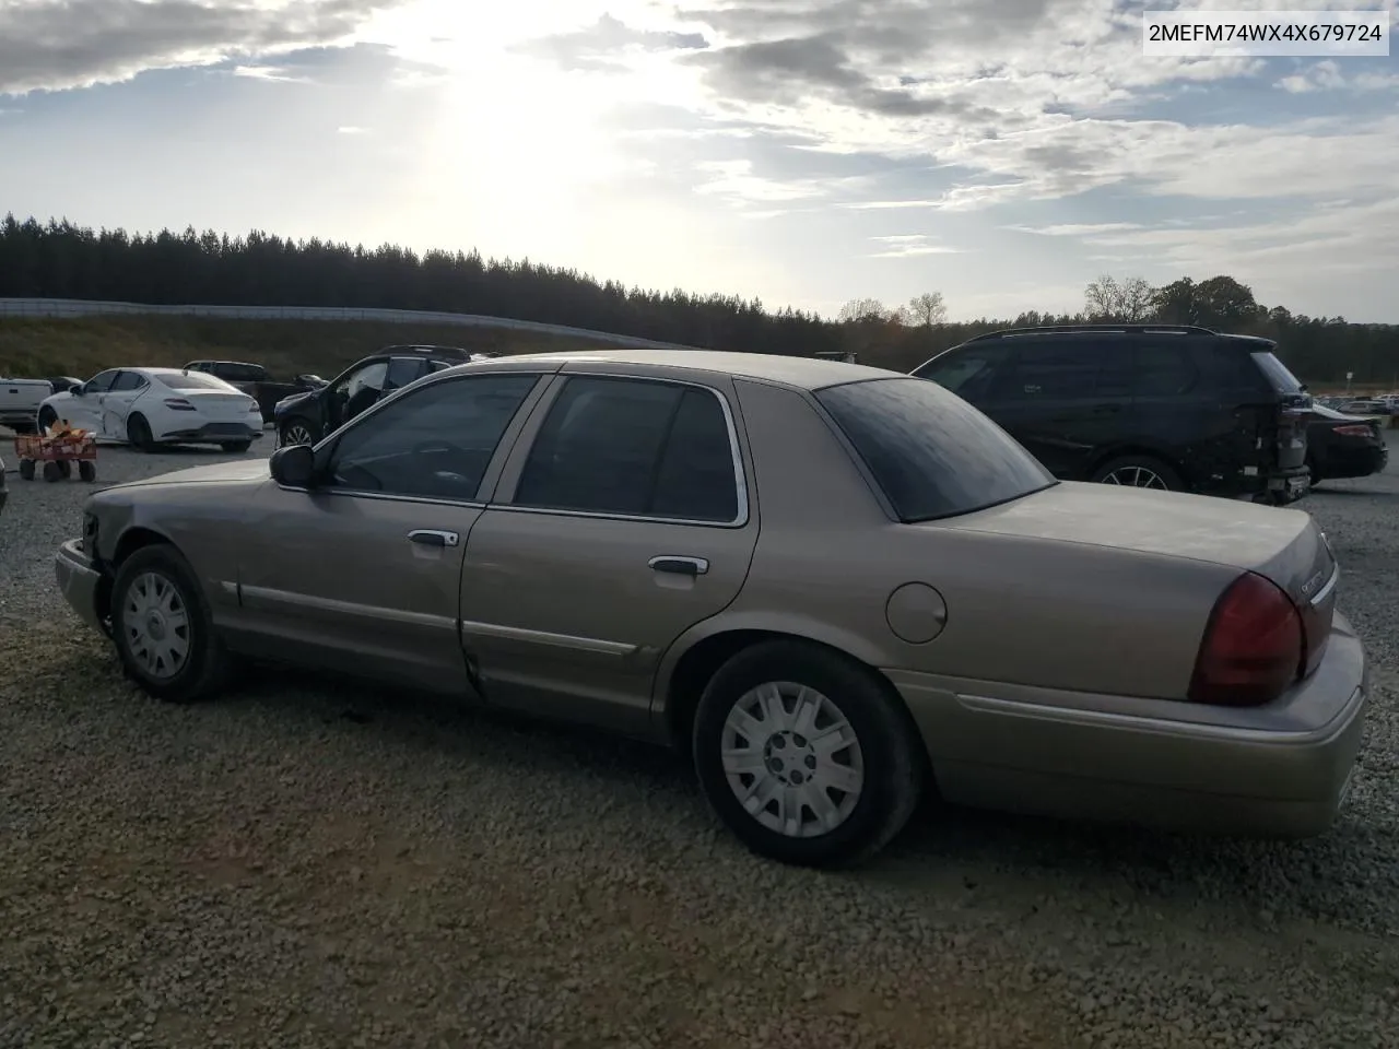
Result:
{"type": "Polygon", "coordinates": [[[865,789],[865,755],[845,715],[792,681],[744,692],[723,723],[720,748],[734,797],[788,838],[830,834],[865,789]]]}

